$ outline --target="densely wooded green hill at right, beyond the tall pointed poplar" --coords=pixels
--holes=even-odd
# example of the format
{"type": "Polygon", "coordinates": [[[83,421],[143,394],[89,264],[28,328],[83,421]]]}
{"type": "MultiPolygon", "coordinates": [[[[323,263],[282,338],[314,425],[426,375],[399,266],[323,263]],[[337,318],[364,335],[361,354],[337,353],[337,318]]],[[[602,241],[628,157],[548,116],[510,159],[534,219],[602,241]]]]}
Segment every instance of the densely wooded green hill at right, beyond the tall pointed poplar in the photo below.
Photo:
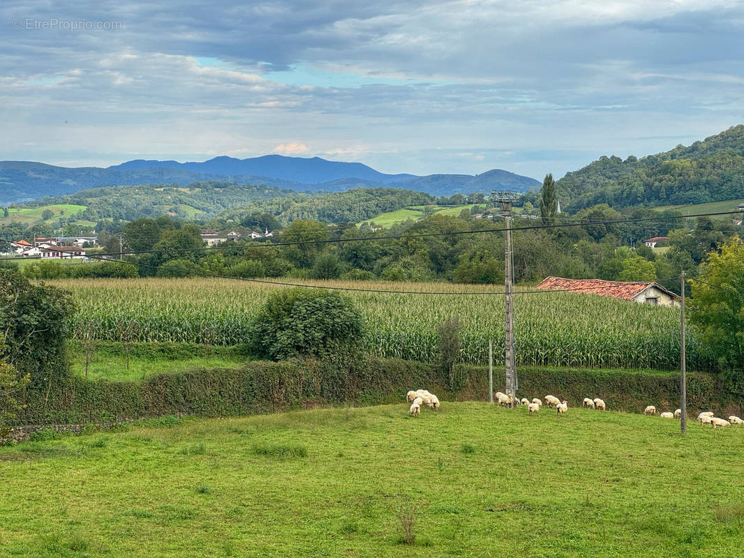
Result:
{"type": "Polygon", "coordinates": [[[566,173],[557,196],[569,212],[600,203],[620,209],[744,197],[744,125],[640,159],[600,157],[566,173]]]}

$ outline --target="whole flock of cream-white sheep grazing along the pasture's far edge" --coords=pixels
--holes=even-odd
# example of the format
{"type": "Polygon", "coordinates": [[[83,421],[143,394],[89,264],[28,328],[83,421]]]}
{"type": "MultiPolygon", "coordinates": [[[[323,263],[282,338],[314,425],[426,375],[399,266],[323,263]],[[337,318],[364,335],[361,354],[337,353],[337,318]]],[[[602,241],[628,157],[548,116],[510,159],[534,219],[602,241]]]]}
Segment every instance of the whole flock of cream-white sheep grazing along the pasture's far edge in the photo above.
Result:
{"type": "MultiPolygon", "coordinates": [[[[408,401],[408,403],[411,403],[411,407],[408,409],[408,414],[410,414],[412,417],[418,416],[419,411],[421,410],[421,405],[426,405],[427,407],[434,409],[434,411],[439,410],[439,398],[436,395],[429,393],[429,391],[426,391],[425,389],[408,391],[408,394],[405,395],[405,399],[408,401]]],[[[539,397],[535,397],[532,401],[530,401],[526,397],[518,399],[513,395],[507,395],[502,393],[501,391],[496,391],[496,393],[493,394],[493,400],[495,403],[498,403],[498,405],[525,405],[527,407],[527,411],[529,411],[530,414],[539,411],[540,406],[543,405],[542,400],[539,397]]],[[[548,405],[548,407],[550,408],[555,408],[557,414],[565,414],[565,412],[568,411],[568,403],[566,403],[565,400],[561,401],[557,397],[554,397],[552,395],[545,396],[545,404],[548,405]]],[[[597,411],[607,410],[605,402],[603,400],[600,400],[599,397],[595,397],[594,399],[591,399],[591,397],[584,397],[582,406],[586,408],[593,408],[597,411]]],[[[644,409],[644,414],[655,415],[655,406],[648,405],[644,409]]],[[[714,429],[717,427],[731,426],[732,424],[744,424],[744,420],[733,414],[731,415],[731,417],[728,417],[728,420],[714,417],[713,414],[714,413],[712,411],[702,412],[698,415],[696,420],[700,421],[701,426],[704,424],[710,424],[711,427],[714,429]]],[[[682,417],[682,410],[678,408],[673,413],[664,411],[658,416],[661,418],[679,419],[680,417],[682,417]]]]}

